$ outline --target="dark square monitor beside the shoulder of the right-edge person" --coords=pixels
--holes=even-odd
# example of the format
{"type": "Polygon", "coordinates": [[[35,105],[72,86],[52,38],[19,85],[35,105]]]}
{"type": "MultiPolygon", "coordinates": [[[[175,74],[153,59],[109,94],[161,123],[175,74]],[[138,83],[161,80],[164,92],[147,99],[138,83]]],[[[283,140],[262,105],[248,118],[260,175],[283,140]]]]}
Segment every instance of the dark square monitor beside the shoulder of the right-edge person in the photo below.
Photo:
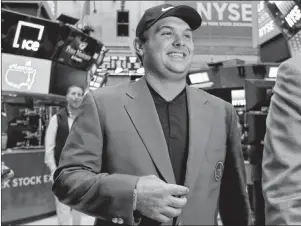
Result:
{"type": "Polygon", "coordinates": [[[275,81],[263,79],[246,79],[246,111],[265,111],[270,105],[275,81]]]}

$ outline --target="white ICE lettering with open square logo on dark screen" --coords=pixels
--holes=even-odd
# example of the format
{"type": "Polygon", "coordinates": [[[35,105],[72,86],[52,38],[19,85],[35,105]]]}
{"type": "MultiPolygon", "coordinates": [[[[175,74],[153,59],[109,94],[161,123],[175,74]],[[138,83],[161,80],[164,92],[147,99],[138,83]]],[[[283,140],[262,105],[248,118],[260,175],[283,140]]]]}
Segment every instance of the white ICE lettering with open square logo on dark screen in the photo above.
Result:
{"type": "Polygon", "coordinates": [[[21,29],[23,26],[38,29],[39,34],[37,37],[37,41],[24,39],[21,44],[21,49],[32,50],[35,52],[38,51],[40,48],[40,43],[38,41],[40,41],[42,39],[43,32],[44,32],[44,26],[39,25],[39,24],[33,24],[30,22],[21,21],[21,20],[18,22],[18,25],[17,25],[17,29],[16,29],[14,41],[13,41],[13,48],[20,48],[19,38],[20,38],[21,29]]]}

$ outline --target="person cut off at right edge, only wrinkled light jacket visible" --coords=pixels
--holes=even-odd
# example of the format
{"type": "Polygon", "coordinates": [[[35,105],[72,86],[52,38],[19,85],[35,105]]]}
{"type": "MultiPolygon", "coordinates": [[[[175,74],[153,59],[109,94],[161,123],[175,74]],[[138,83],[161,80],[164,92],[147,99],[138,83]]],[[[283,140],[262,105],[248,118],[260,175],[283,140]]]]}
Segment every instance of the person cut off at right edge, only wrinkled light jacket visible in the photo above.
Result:
{"type": "Polygon", "coordinates": [[[279,66],[262,161],[266,225],[301,224],[301,53],[279,66]]]}

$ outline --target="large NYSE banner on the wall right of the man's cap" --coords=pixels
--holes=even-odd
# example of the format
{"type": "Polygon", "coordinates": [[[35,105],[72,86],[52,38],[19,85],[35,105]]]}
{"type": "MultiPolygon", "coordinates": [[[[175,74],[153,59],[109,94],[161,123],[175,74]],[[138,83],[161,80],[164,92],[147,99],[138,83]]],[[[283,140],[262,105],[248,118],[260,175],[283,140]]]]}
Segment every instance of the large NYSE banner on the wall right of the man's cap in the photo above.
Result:
{"type": "Polygon", "coordinates": [[[248,1],[168,1],[196,9],[203,22],[196,37],[252,38],[252,4],[248,1]]]}

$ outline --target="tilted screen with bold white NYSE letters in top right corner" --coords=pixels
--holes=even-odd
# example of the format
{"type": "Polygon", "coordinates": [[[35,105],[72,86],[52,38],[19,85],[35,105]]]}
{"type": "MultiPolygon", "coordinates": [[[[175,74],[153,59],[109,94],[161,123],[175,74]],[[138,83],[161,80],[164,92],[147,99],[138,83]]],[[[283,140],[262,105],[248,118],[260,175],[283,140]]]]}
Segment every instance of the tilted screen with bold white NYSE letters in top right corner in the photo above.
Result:
{"type": "Polygon", "coordinates": [[[266,1],[265,3],[286,38],[292,38],[301,30],[301,0],[266,1]]]}

